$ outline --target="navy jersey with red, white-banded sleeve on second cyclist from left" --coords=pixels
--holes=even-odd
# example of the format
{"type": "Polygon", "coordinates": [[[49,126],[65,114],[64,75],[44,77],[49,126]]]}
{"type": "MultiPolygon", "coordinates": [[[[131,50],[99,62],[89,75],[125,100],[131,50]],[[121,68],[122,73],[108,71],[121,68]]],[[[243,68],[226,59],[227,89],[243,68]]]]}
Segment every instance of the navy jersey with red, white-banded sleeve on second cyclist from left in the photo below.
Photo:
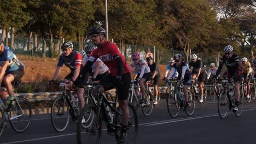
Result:
{"type": "Polygon", "coordinates": [[[75,66],[82,65],[82,55],[78,51],[72,51],[68,56],[65,56],[65,53],[62,53],[57,64],[57,67],[62,67],[63,64],[65,64],[66,67],[68,67],[71,70],[71,73],[73,74],[75,71],[75,66]]]}

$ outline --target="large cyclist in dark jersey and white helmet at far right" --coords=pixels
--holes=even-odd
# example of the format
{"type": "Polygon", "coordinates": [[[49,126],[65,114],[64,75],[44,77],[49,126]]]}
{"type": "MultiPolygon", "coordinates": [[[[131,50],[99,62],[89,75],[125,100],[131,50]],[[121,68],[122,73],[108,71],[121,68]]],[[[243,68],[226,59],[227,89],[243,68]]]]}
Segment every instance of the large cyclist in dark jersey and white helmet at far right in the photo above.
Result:
{"type": "MultiPolygon", "coordinates": [[[[219,68],[216,75],[220,74],[220,71],[225,64],[228,68],[226,76],[228,79],[230,79],[230,81],[235,82],[235,106],[232,106],[232,109],[233,111],[238,111],[238,105],[240,104],[240,82],[242,81],[243,76],[243,66],[238,55],[233,52],[233,47],[231,45],[225,46],[224,52],[225,55],[223,55],[219,60],[219,68]]],[[[214,79],[216,78],[217,77],[215,76],[214,79]]]]}

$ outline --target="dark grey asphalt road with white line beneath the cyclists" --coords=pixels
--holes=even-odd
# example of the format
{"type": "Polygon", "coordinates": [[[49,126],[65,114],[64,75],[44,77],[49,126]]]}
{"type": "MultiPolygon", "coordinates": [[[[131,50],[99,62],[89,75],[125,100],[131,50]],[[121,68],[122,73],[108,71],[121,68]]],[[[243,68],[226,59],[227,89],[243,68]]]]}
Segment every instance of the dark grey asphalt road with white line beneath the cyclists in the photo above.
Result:
{"type": "MultiPolygon", "coordinates": [[[[193,116],[179,111],[176,118],[168,115],[165,99],[152,115],[145,117],[138,111],[139,132],[136,143],[255,143],[256,141],[256,100],[244,103],[241,117],[229,112],[226,119],[220,119],[217,103],[208,100],[197,104],[193,116]]],[[[77,143],[75,122],[58,133],[50,122],[50,115],[33,115],[30,127],[24,133],[16,133],[10,125],[0,137],[3,143],[77,143]]],[[[114,136],[103,130],[102,143],[115,143],[114,136]]]]}

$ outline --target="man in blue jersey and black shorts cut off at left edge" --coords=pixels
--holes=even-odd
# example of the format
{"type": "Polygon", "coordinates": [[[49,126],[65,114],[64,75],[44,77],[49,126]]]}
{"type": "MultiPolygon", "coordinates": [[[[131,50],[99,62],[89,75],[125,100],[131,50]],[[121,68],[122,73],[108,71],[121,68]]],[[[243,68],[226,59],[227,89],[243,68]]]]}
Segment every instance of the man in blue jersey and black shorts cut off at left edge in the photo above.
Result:
{"type": "Polygon", "coordinates": [[[15,104],[12,82],[21,79],[24,75],[25,65],[19,61],[8,47],[4,46],[2,39],[0,39],[0,66],[2,67],[0,70],[0,80],[4,76],[1,87],[7,88],[7,92],[1,92],[1,100],[8,105],[5,111],[9,112],[15,104]],[[9,94],[8,98],[7,93],[9,94]]]}

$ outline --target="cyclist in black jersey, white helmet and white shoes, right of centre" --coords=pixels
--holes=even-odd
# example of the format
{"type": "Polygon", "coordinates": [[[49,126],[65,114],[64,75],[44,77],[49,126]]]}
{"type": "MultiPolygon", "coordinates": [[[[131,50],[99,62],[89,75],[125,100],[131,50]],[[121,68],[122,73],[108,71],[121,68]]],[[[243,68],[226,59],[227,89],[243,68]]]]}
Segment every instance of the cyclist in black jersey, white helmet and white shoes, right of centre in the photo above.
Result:
{"type": "Polygon", "coordinates": [[[190,71],[192,72],[192,78],[199,82],[201,98],[199,103],[203,102],[203,85],[206,77],[205,70],[203,70],[203,64],[201,58],[197,58],[196,54],[190,56],[191,62],[189,63],[190,71]]]}

